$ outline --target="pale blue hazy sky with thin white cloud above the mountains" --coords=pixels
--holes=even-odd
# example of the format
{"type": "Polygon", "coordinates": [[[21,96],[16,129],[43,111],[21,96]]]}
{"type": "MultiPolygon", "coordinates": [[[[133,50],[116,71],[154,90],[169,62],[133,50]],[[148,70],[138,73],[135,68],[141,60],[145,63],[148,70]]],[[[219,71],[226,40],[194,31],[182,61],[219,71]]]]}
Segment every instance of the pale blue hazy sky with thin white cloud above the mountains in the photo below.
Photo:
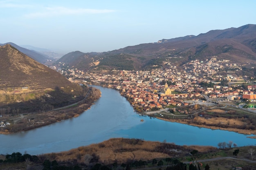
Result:
{"type": "Polygon", "coordinates": [[[0,43],[103,52],[256,24],[255,0],[0,0],[0,43]]]}

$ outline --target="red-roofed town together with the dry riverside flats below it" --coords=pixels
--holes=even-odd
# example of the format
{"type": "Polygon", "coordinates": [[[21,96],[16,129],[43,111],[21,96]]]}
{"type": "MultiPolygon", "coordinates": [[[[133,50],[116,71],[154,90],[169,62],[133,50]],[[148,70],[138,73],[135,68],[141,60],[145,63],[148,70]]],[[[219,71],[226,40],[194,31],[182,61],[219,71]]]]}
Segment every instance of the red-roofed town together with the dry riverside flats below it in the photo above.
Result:
{"type": "Polygon", "coordinates": [[[255,102],[245,97],[255,93],[255,79],[237,74],[244,67],[229,60],[218,60],[217,56],[185,63],[182,71],[171,62],[164,64],[166,66],[150,71],[63,69],[63,75],[73,82],[116,89],[142,115],[256,134],[255,110],[246,107],[255,102]],[[220,108],[220,112],[214,108],[220,108]],[[153,110],[158,114],[150,114],[153,110]]]}

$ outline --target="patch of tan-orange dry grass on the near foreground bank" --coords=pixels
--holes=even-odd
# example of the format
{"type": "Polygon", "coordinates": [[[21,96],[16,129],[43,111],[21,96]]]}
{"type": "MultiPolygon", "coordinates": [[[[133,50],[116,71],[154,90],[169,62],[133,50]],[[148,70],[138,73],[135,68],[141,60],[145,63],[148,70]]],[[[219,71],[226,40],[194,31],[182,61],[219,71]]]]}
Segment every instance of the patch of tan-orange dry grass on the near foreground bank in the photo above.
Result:
{"type": "Polygon", "coordinates": [[[207,152],[216,150],[211,146],[177,146],[160,142],[143,141],[140,139],[115,138],[103,141],[100,144],[81,146],[66,152],[47,154],[48,159],[67,162],[77,159],[78,163],[84,163],[85,155],[95,155],[100,163],[111,164],[117,162],[127,163],[129,161],[163,159],[177,155],[188,155],[192,150],[207,152]],[[171,151],[171,150],[177,150],[171,151]]]}

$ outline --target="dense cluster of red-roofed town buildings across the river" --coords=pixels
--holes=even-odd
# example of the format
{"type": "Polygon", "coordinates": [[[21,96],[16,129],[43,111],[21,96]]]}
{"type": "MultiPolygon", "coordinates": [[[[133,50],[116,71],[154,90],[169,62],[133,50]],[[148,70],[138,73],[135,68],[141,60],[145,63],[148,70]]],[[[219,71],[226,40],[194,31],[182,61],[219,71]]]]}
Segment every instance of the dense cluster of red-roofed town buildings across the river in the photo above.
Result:
{"type": "Polygon", "coordinates": [[[168,105],[186,105],[184,100],[197,100],[207,95],[209,98],[255,99],[255,87],[248,89],[238,85],[221,86],[220,81],[246,82],[242,77],[218,75],[219,71],[241,69],[240,66],[228,60],[217,60],[216,57],[204,61],[193,60],[183,66],[180,71],[166,61],[166,68],[152,70],[126,71],[98,71],[85,72],[78,69],[68,69],[62,73],[72,82],[99,84],[115,88],[126,96],[135,106],[144,110],[164,108],[168,105]],[[211,77],[211,78],[209,78],[211,77]],[[213,87],[202,87],[200,82],[214,84],[213,87]]]}

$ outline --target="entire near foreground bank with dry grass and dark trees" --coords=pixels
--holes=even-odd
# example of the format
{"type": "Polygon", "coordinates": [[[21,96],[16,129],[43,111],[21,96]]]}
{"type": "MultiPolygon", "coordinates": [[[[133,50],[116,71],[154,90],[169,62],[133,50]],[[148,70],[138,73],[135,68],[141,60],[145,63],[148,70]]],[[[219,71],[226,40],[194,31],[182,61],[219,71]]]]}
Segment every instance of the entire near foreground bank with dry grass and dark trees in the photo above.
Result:
{"type": "Polygon", "coordinates": [[[178,146],[143,139],[109,139],[65,152],[0,155],[2,170],[256,170],[255,146],[178,146]]]}

